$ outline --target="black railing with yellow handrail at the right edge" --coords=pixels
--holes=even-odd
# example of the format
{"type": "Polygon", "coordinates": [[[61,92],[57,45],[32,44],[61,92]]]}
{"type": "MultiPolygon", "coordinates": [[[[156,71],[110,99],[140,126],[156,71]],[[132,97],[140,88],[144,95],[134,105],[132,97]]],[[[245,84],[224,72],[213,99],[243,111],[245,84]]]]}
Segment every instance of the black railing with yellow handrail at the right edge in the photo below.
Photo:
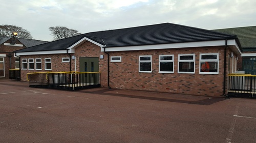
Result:
{"type": "Polygon", "coordinates": [[[229,74],[228,95],[230,97],[256,97],[256,76],[250,74],[229,74]]]}

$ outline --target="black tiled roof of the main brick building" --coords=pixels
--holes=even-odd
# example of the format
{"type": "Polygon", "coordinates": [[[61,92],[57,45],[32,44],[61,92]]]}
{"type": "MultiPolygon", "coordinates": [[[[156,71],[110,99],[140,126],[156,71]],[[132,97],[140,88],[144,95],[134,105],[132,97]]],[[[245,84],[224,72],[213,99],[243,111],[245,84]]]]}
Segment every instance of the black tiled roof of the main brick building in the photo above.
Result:
{"type": "Polygon", "coordinates": [[[162,23],[121,28],[118,30],[91,32],[18,50],[17,52],[63,50],[69,48],[84,37],[90,38],[91,40],[110,48],[224,39],[236,39],[239,43],[239,40],[234,35],[222,34],[184,25],[162,23]]]}

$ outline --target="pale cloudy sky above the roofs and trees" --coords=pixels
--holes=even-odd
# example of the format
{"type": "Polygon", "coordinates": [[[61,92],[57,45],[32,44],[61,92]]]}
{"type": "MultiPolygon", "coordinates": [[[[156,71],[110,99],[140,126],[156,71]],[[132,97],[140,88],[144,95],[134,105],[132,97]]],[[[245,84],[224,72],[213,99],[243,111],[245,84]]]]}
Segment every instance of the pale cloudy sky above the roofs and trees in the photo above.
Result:
{"type": "Polygon", "coordinates": [[[175,23],[214,30],[256,26],[255,0],[0,0],[0,25],[52,41],[50,26],[79,33],[175,23]]]}

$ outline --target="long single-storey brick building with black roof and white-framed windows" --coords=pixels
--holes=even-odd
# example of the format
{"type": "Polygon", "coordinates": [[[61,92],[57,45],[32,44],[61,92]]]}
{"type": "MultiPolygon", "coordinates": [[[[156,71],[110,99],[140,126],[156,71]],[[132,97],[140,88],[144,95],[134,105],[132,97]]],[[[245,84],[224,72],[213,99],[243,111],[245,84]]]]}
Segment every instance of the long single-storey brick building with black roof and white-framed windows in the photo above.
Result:
{"type": "Polygon", "coordinates": [[[242,53],[236,36],[162,23],[92,32],[15,51],[21,79],[42,71],[101,72],[115,89],[221,96],[242,53]]]}

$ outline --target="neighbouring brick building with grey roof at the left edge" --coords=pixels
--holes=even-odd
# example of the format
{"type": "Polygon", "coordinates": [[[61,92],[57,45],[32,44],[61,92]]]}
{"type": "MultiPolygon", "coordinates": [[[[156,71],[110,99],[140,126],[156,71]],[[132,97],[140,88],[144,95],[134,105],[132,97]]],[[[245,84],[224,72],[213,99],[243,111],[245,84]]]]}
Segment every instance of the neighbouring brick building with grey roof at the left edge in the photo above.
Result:
{"type": "Polygon", "coordinates": [[[13,51],[43,43],[47,41],[0,36],[0,78],[9,78],[9,69],[19,69],[19,58],[13,51]]]}

